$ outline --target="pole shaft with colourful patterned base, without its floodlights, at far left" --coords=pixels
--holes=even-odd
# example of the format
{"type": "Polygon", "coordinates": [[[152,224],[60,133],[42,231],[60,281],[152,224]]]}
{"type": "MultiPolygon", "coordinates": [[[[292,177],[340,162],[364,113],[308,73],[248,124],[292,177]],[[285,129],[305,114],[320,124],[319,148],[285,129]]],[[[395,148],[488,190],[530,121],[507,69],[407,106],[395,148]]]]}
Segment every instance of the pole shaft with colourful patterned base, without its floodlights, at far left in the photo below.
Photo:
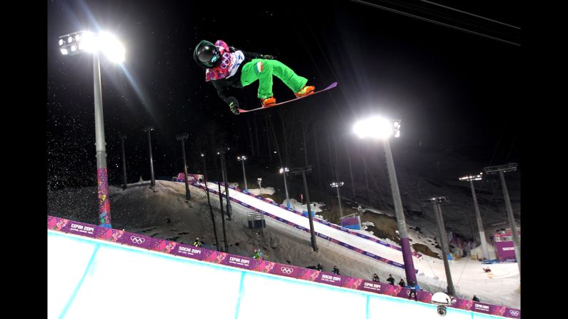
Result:
{"type": "Polygon", "coordinates": [[[96,185],[99,197],[99,226],[111,228],[111,202],[109,201],[109,175],[106,168],[106,143],[104,141],[103,96],[101,91],[101,66],[99,54],[93,54],[96,185]]]}

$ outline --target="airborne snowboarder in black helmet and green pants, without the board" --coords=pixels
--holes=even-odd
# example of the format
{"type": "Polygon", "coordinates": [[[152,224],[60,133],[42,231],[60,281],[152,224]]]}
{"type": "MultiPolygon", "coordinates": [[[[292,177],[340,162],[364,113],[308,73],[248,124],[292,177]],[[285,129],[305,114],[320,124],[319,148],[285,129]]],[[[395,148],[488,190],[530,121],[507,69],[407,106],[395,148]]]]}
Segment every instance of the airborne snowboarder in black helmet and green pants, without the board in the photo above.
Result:
{"type": "Polygon", "coordinates": [[[194,50],[196,63],[205,69],[205,81],[211,81],[219,97],[229,104],[235,114],[239,114],[239,101],[229,95],[229,86],[243,88],[259,80],[258,98],[262,107],[274,106],[276,98],[272,93],[272,76],[281,79],[299,98],[315,91],[314,86],[307,86],[307,79],[298,76],[292,69],[274,56],[257,54],[235,49],[224,41],[215,44],[201,41],[194,50]]]}

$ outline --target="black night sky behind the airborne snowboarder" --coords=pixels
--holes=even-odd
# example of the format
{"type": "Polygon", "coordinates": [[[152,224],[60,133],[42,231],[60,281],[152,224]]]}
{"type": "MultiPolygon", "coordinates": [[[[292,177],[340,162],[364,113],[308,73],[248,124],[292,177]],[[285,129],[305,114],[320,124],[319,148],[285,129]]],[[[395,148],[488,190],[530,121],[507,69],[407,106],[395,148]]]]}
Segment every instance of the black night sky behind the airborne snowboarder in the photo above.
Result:
{"type": "MultiPolygon", "coordinates": [[[[249,121],[279,116],[317,126],[322,136],[349,136],[357,118],[372,113],[402,119],[401,148],[451,148],[484,165],[520,163],[519,105],[522,46],[379,9],[356,1],[49,1],[47,16],[46,151],[48,175],[75,176],[94,185],[92,57],[62,56],[58,37],[79,30],[113,32],[126,47],[122,66],[101,58],[102,96],[110,183],[121,183],[119,134],[126,139],[129,182],[149,179],[144,126],[154,126],[157,176],[182,170],[175,136],[189,133],[189,171],[226,143],[250,155],[249,121]],[[193,60],[202,39],[271,54],[316,88],[338,88],[283,108],[233,115],[204,81],[193,60]],[[248,153],[247,153],[248,152],[248,153]]],[[[521,43],[520,31],[421,1],[369,1],[422,14],[462,28],[521,43]],[[419,4],[409,6],[409,4],[419,4]],[[432,14],[436,9],[437,14],[432,14]],[[430,11],[429,11],[430,10],[430,11]],[[471,18],[471,17],[470,17],[471,18]]],[[[513,1],[437,1],[521,26],[513,1]]],[[[257,83],[231,88],[241,108],[256,108],[257,83]]],[[[293,98],[274,79],[277,101],[293,98]]],[[[278,119],[278,121],[276,121],[278,119]]],[[[294,122],[295,121],[295,122],[294,122]]],[[[352,137],[354,138],[354,137],[352,137]]],[[[324,144],[324,141],[321,142],[324,144]]],[[[300,148],[298,143],[293,148],[300,148]]],[[[292,158],[291,164],[302,158],[292,158]]],[[[398,161],[399,159],[397,159],[398,161]]],[[[404,161],[404,159],[400,159],[404,161]]],[[[228,161],[234,162],[234,161],[228,161]]],[[[238,163],[231,164],[239,168],[238,163]]],[[[276,166],[276,162],[274,165],[276,166]]]]}

